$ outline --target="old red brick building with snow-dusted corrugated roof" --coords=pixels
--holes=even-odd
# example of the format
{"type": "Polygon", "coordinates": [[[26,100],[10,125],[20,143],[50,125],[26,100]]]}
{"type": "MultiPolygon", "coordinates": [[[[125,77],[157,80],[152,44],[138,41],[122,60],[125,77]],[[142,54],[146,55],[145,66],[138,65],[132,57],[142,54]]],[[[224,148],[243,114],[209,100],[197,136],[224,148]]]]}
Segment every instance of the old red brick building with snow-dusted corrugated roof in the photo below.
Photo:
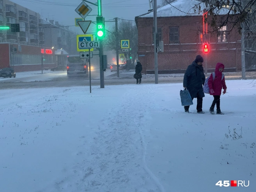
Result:
{"type": "MultiPolygon", "coordinates": [[[[158,73],[184,73],[196,55],[204,57],[203,66],[212,72],[217,62],[225,65],[225,71],[241,71],[241,37],[238,32],[227,33],[222,27],[219,36],[203,32],[203,11],[194,11],[196,0],[178,0],[157,9],[157,31],[159,41],[164,43],[164,52],[158,53],[158,73]],[[203,52],[204,40],[209,43],[209,52],[203,52]],[[207,55],[206,55],[207,54],[207,55]],[[207,59],[206,59],[207,57],[207,59]]],[[[201,3],[201,10],[205,7],[201,3]]],[[[228,9],[221,9],[221,16],[228,9]]],[[[155,73],[153,11],[135,17],[138,28],[138,56],[142,73],[155,73]]],[[[210,30],[210,28],[208,29],[210,30]]]]}

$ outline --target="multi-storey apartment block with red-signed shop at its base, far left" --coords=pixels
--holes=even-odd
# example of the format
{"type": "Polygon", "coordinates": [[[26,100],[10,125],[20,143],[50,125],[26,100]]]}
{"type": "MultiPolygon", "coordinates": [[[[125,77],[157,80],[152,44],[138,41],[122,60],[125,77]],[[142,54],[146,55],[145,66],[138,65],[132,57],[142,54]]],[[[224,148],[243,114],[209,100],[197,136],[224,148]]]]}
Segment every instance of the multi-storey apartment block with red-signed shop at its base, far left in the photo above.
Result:
{"type": "Polygon", "coordinates": [[[20,24],[20,32],[0,30],[0,68],[16,71],[41,70],[56,66],[57,49],[76,51],[75,33],[67,27],[41,18],[40,14],[9,0],[0,0],[0,26],[20,24]],[[73,40],[73,41],[72,41],[73,40]]]}

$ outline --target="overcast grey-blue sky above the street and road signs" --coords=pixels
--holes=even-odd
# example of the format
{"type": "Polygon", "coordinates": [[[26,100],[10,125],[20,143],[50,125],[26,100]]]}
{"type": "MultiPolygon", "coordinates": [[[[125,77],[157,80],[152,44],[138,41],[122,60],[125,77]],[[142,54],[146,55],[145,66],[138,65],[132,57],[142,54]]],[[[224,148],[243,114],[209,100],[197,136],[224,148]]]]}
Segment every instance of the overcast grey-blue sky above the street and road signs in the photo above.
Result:
{"type": "MultiPolygon", "coordinates": [[[[12,2],[38,12],[43,18],[59,21],[60,25],[75,25],[75,18],[80,17],[75,9],[82,0],[12,0],[12,2]]],[[[97,0],[91,2],[96,3],[97,0]]],[[[90,14],[97,14],[97,7],[87,4],[92,8],[90,14]]],[[[148,12],[148,9],[149,0],[102,0],[102,14],[105,21],[115,17],[134,20],[135,16],[148,12]]],[[[96,21],[96,16],[87,16],[85,20],[96,21]]],[[[111,28],[112,24],[114,23],[106,23],[106,28],[111,28]]],[[[76,27],[75,31],[82,33],[79,27],[76,27]]]]}

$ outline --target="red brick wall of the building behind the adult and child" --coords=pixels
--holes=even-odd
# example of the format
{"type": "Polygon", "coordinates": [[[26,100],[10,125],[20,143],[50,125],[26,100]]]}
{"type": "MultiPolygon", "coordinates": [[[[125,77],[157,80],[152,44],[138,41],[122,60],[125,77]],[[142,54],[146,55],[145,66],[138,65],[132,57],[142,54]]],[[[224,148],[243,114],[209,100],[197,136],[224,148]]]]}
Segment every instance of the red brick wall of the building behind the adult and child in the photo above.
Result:
{"type": "MultiPolygon", "coordinates": [[[[162,27],[164,52],[158,53],[158,70],[187,69],[196,55],[204,57],[203,45],[199,43],[199,28],[202,26],[201,16],[158,18],[158,27],[162,27]],[[179,27],[180,44],[169,44],[169,27],[179,27]]],[[[142,64],[142,73],[154,70],[154,45],[152,45],[153,18],[136,18],[138,28],[138,55],[142,64]],[[144,57],[140,55],[145,55],[144,57]]],[[[210,28],[209,28],[210,30],[210,28]]],[[[207,68],[214,69],[217,62],[225,68],[241,70],[240,35],[233,31],[228,34],[227,43],[217,43],[217,34],[210,35],[210,50],[207,54],[207,68]]]]}

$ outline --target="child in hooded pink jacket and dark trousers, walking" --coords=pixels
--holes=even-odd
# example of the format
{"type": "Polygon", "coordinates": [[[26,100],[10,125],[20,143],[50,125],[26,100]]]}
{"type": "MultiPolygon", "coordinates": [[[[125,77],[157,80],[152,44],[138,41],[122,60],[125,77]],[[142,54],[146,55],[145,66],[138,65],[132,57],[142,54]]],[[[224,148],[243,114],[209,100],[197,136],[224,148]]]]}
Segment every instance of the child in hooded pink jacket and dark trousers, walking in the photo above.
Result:
{"type": "Polygon", "coordinates": [[[212,106],[210,107],[210,113],[214,114],[215,104],[217,106],[217,114],[223,115],[220,111],[220,95],[222,88],[224,89],[223,94],[226,93],[227,86],[225,83],[225,77],[222,77],[222,71],[224,70],[224,65],[222,63],[217,63],[215,68],[215,78],[213,79],[213,75],[211,74],[208,80],[208,86],[210,89],[210,95],[213,95],[212,106]]]}

